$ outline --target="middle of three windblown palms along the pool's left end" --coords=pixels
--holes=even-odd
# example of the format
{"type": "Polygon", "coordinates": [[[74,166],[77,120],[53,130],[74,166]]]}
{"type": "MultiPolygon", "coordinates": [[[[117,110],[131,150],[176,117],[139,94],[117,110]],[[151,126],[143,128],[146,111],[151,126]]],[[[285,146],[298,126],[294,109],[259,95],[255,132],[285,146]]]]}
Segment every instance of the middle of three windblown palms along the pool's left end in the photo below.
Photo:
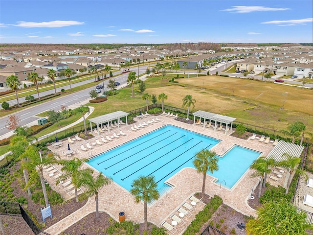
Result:
{"type": "Polygon", "coordinates": [[[89,171],[90,174],[92,174],[93,172],[93,170],[91,170],[90,168],[80,169],[85,161],[86,161],[85,159],[74,158],[71,160],[61,160],[59,162],[59,164],[63,165],[61,170],[65,172],[66,174],[59,177],[56,183],[58,185],[60,181],[64,181],[70,178],[75,188],[76,202],[78,202],[77,188],[80,188],[82,186],[82,181],[80,180],[81,176],[86,171],[89,171]]]}

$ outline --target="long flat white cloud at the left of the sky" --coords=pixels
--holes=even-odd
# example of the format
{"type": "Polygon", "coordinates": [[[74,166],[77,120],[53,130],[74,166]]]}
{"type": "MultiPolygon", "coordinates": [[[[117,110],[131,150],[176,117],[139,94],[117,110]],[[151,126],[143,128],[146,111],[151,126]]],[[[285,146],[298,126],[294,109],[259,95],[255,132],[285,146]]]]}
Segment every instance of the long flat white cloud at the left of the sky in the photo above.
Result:
{"type": "Polygon", "coordinates": [[[78,21],[50,21],[50,22],[18,21],[17,23],[19,24],[12,24],[12,25],[18,26],[18,27],[24,27],[24,28],[35,28],[35,27],[59,28],[59,27],[65,27],[65,26],[71,26],[71,25],[84,24],[84,22],[78,22],[78,21]]]}

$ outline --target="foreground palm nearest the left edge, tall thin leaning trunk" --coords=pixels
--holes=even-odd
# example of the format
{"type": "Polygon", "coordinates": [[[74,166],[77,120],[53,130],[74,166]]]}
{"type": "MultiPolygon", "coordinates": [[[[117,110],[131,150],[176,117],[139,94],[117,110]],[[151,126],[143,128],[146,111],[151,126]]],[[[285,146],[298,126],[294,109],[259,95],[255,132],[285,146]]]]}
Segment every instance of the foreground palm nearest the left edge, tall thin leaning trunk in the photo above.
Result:
{"type": "MultiPolygon", "coordinates": [[[[13,136],[10,139],[10,150],[12,154],[18,159],[21,160],[21,163],[24,163],[27,161],[27,158],[25,158],[22,154],[25,152],[26,147],[28,146],[28,141],[26,140],[25,136],[13,136]],[[22,156],[22,157],[21,157],[22,156]]],[[[23,169],[23,176],[25,180],[25,185],[28,183],[28,170],[25,167],[22,167],[23,169]]],[[[28,197],[31,197],[31,190],[30,187],[27,187],[27,193],[28,197]]]]}

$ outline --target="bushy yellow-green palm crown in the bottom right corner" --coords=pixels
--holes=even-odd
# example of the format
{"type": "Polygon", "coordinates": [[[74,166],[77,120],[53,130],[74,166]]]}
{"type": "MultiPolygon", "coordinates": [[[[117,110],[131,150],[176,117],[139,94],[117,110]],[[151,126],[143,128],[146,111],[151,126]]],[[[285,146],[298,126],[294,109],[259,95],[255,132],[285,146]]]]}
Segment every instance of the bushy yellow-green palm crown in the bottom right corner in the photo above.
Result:
{"type": "Polygon", "coordinates": [[[269,201],[257,209],[257,218],[246,223],[250,235],[307,235],[313,225],[307,221],[307,214],[298,211],[286,199],[269,201]]]}

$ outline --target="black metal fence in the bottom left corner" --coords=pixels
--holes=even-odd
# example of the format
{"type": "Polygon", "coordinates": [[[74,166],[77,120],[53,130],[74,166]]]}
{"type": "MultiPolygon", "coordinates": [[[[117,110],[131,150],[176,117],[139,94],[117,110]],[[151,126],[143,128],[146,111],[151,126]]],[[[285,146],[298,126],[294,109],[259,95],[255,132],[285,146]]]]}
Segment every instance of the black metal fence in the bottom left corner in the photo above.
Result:
{"type": "Polygon", "coordinates": [[[0,214],[11,215],[11,216],[22,216],[29,228],[34,232],[35,235],[49,235],[44,231],[41,231],[34,221],[29,217],[26,211],[22,208],[19,203],[13,202],[0,202],[0,214]]]}

